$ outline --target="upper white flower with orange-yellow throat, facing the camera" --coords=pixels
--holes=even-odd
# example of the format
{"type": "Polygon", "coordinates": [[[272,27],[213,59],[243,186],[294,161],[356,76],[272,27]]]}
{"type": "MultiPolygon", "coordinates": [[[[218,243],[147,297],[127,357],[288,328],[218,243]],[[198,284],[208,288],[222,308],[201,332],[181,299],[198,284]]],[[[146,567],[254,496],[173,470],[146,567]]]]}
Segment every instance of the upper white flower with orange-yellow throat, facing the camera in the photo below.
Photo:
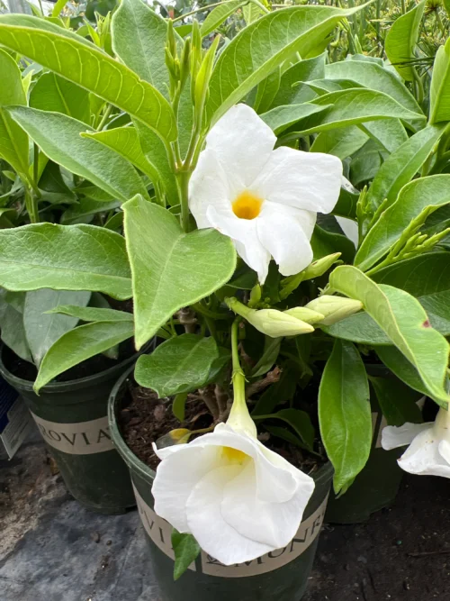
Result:
{"type": "Polygon", "coordinates": [[[282,146],[247,105],[229,109],[206,137],[189,184],[197,226],[229,236],[264,283],[273,257],[284,276],[312,260],[316,214],[338,201],[340,159],[282,146]]]}

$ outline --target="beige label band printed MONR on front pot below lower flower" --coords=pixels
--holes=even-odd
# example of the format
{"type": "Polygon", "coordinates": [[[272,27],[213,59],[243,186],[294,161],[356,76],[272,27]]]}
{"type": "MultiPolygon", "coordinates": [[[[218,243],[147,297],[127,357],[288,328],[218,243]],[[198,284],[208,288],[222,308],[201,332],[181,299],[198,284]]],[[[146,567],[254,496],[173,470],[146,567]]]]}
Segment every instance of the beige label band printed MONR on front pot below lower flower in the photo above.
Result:
{"type": "Polygon", "coordinates": [[[243,578],[265,574],[274,569],[281,568],[287,563],[297,559],[308,549],[312,542],[319,536],[323,524],[325,510],[327,509],[328,496],[320,505],[319,509],[310,515],[302,524],[293,537],[293,540],[283,549],[276,549],[257,560],[237,563],[233,566],[224,566],[220,561],[214,560],[211,555],[202,551],[202,572],[210,576],[222,578],[243,578]]]}

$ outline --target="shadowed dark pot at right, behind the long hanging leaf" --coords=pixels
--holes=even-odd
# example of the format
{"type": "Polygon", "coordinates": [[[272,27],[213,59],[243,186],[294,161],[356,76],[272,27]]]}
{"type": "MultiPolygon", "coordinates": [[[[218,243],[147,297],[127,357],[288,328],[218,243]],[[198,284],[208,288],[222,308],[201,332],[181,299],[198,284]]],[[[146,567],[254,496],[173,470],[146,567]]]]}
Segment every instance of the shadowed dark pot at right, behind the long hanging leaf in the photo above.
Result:
{"type": "MultiPolygon", "coordinates": [[[[389,377],[391,373],[382,366],[366,367],[374,376],[389,377]]],[[[370,403],[374,436],[369,460],[345,495],[337,498],[331,493],[329,496],[326,521],[332,524],[366,522],[371,514],[391,506],[399,492],[403,471],[397,460],[404,450],[383,450],[382,432],[387,422],[372,389],[370,403]]]]}

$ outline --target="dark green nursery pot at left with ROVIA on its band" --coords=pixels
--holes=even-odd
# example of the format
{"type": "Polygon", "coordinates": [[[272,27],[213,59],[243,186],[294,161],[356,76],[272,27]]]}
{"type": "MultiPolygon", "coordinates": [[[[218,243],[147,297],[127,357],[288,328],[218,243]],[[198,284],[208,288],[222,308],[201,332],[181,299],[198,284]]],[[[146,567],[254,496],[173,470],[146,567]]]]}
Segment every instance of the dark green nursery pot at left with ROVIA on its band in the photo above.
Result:
{"type": "Polygon", "coordinates": [[[112,445],[107,405],[114,382],[138,356],[88,378],[50,382],[37,396],[31,381],[5,368],[0,350],[0,373],[23,396],[68,491],[102,514],[136,505],[129,471],[112,445]]]}

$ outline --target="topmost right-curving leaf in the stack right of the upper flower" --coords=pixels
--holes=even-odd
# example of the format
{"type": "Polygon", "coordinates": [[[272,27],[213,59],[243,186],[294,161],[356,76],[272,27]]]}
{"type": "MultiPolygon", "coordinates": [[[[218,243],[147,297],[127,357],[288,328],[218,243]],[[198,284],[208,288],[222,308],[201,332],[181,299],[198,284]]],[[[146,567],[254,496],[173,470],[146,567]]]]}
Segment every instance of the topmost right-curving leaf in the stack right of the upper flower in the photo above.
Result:
{"type": "Polygon", "coordinates": [[[392,71],[388,71],[376,63],[368,63],[363,60],[339,60],[326,65],[325,77],[331,81],[340,78],[351,79],[360,86],[383,92],[412,113],[421,115],[423,119],[422,110],[408,88],[392,71]]]}

